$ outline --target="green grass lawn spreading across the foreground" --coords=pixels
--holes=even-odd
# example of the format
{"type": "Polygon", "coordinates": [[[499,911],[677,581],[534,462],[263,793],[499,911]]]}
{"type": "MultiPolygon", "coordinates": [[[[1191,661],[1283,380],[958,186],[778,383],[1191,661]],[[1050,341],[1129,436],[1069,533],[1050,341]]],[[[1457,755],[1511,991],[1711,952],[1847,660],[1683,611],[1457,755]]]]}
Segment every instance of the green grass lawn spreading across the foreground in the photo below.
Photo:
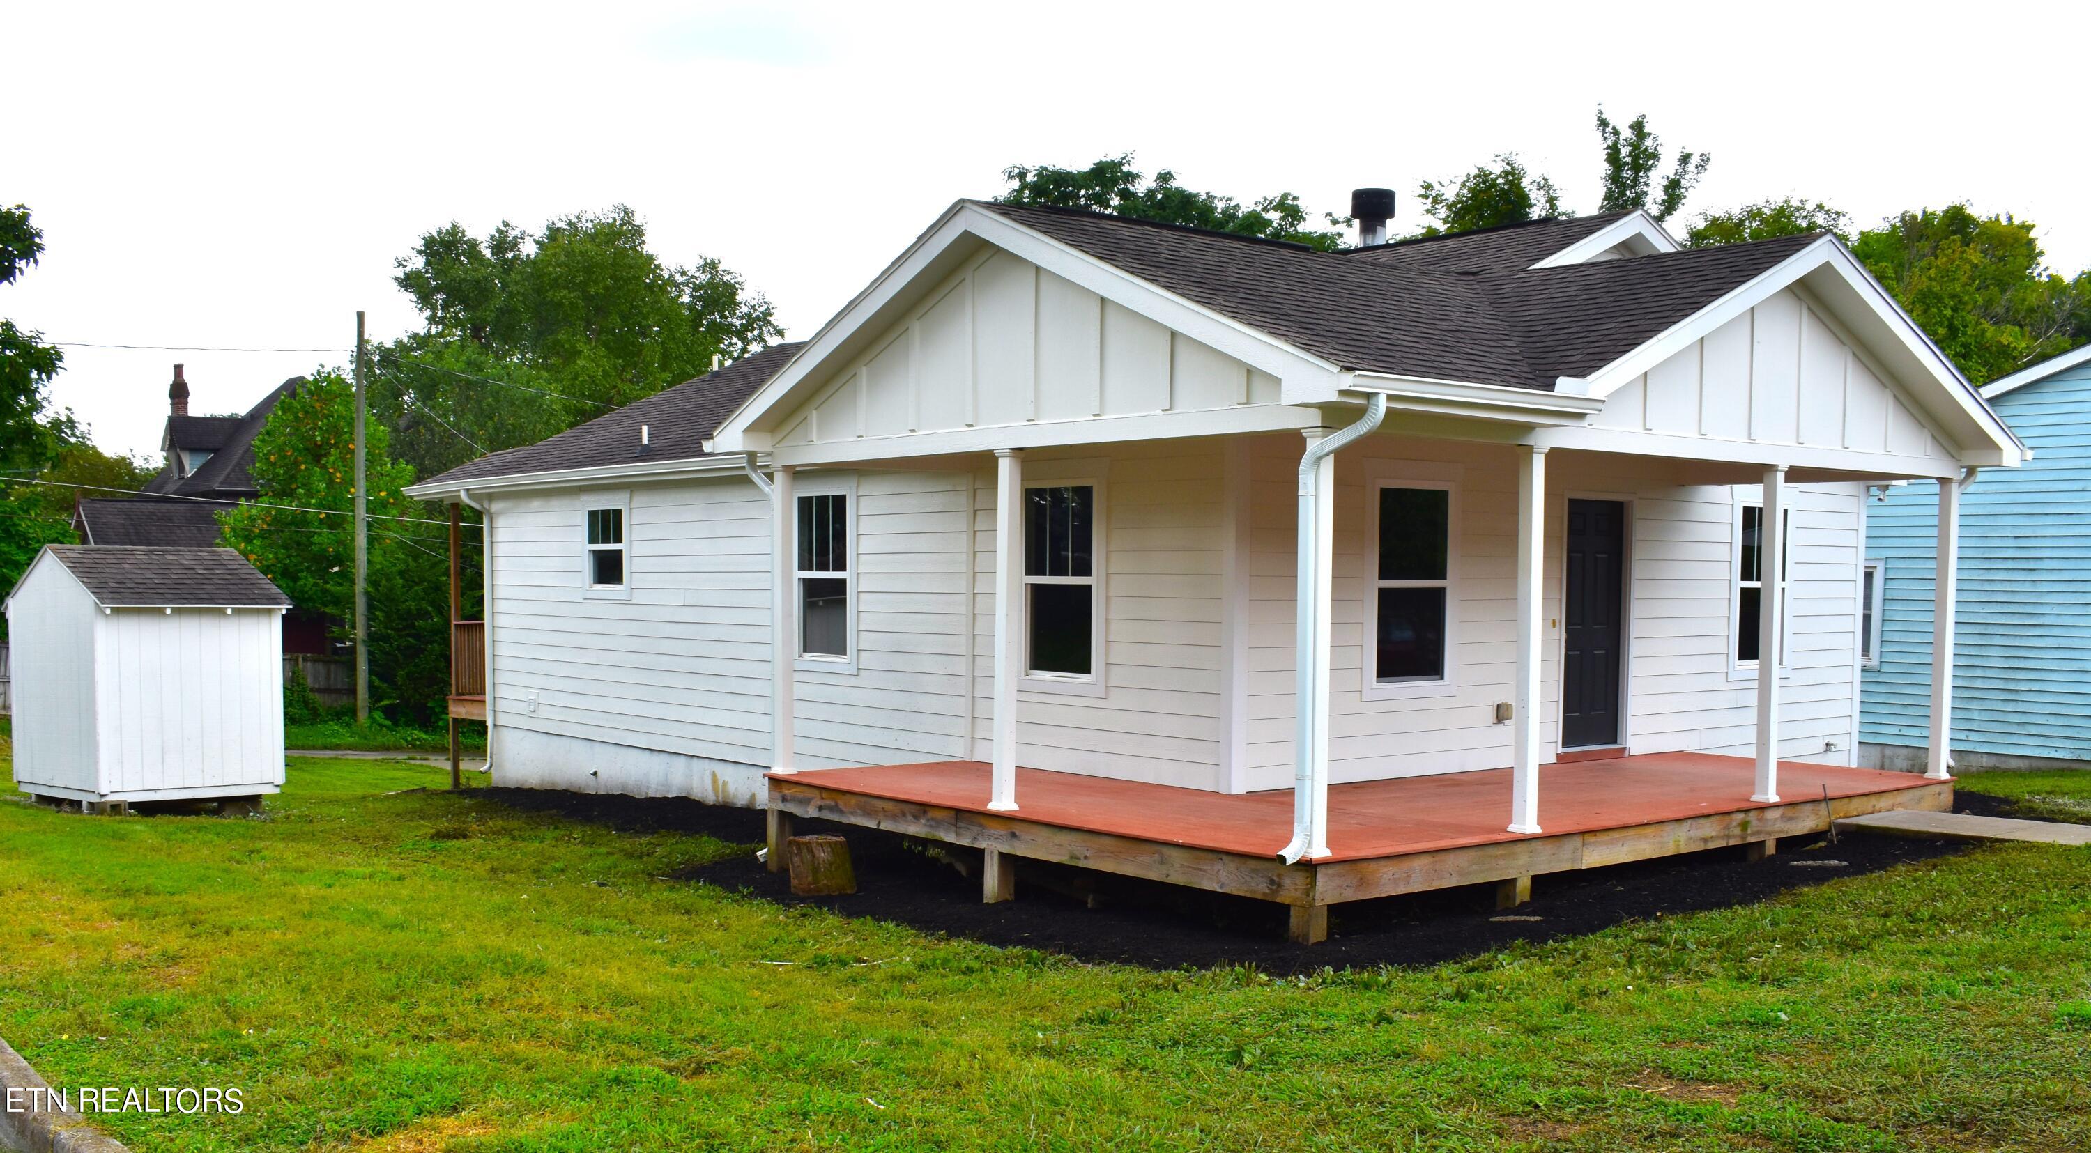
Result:
{"type": "MultiPolygon", "coordinates": [[[[0,1036],[61,1086],[243,1090],[109,1117],[140,1151],[2091,1149],[2091,850],[1267,980],[780,909],[663,879],[751,846],[397,792],[443,779],[0,802],[0,1036]]],[[[1980,779],[2018,785],[2091,800],[1980,779]]]]}

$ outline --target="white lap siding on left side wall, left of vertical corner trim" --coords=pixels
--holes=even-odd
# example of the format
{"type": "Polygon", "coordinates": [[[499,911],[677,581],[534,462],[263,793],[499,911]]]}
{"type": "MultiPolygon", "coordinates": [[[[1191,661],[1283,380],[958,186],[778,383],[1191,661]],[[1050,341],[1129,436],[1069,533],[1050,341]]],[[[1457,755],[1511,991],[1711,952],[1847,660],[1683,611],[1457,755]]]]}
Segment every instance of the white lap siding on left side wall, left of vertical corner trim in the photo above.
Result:
{"type": "MultiPolygon", "coordinates": [[[[801,472],[807,489],[832,474],[801,472]]],[[[857,670],[801,668],[807,769],[962,754],[962,474],[857,476],[857,670]]],[[[746,480],[629,491],[629,599],[581,589],[575,493],[496,510],[496,723],[769,762],[769,501],[746,480]],[[537,693],[537,710],[529,710],[537,693]]]]}

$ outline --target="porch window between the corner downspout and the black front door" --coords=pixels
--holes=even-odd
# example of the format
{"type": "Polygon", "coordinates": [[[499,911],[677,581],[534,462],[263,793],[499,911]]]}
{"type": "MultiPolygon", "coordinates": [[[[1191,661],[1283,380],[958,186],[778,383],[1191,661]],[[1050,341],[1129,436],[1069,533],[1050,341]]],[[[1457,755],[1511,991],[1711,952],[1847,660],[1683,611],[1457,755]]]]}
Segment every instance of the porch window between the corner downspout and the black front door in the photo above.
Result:
{"type": "Polygon", "coordinates": [[[1451,491],[1380,487],[1372,677],[1443,681],[1451,616],[1451,491]]]}

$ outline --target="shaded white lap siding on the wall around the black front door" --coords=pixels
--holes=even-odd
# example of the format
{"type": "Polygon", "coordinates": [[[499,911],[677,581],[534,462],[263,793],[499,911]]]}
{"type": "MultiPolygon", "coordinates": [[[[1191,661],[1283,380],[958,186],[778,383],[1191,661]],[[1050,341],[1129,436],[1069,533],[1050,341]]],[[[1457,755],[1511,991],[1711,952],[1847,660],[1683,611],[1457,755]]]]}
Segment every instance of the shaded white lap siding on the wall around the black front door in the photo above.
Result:
{"type": "MultiPolygon", "coordinates": [[[[1248,787],[1292,773],[1294,560],[1299,447],[1253,453],[1248,558],[1248,787]]],[[[1681,487],[1658,460],[1552,453],[1541,597],[1541,756],[1554,756],[1560,710],[1560,574],[1570,495],[1633,503],[1629,545],[1627,742],[1633,752],[1748,756],[1756,739],[1754,673],[1731,673],[1733,510],[1729,487],[1681,487]]],[[[1336,464],[1330,775],[1334,781],[1510,764],[1510,725],[1493,721],[1516,675],[1516,457],[1501,447],[1376,437],[1336,464]],[[1424,472],[1460,464],[1457,679],[1449,696],[1363,700],[1365,485],[1372,462],[1424,472]]],[[[1782,681],[1782,756],[1846,760],[1859,489],[1794,493],[1790,673],[1782,681]],[[1823,746],[1834,744],[1834,752],[1823,746]]]]}

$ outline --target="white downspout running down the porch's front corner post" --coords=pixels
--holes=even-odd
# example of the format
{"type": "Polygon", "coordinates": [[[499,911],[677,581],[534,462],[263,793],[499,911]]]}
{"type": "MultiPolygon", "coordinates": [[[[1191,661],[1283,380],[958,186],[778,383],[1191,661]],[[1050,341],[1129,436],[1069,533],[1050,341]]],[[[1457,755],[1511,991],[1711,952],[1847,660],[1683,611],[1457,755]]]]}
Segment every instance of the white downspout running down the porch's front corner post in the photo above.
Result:
{"type": "Polygon", "coordinates": [[[1319,637],[1328,627],[1322,620],[1322,583],[1328,579],[1322,572],[1322,495],[1319,495],[1319,466],[1326,457],[1336,455],[1338,449],[1357,441],[1359,437],[1370,437],[1386,420],[1386,393],[1372,393],[1365,399],[1365,416],[1340,428],[1301,453],[1301,510],[1299,510],[1299,608],[1294,610],[1299,618],[1296,652],[1294,652],[1294,712],[1296,723],[1292,731],[1292,842],[1286,844],[1278,856],[1292,865],[1303,856],[1328,856],[1328,810],[1324,802],[1328,798],[1328,764],[1322,758],[1324,752],[1324,714],[1319,702],[1328,696],[1328,670],[1322,666],[1322,643],[1319,637]]]}

